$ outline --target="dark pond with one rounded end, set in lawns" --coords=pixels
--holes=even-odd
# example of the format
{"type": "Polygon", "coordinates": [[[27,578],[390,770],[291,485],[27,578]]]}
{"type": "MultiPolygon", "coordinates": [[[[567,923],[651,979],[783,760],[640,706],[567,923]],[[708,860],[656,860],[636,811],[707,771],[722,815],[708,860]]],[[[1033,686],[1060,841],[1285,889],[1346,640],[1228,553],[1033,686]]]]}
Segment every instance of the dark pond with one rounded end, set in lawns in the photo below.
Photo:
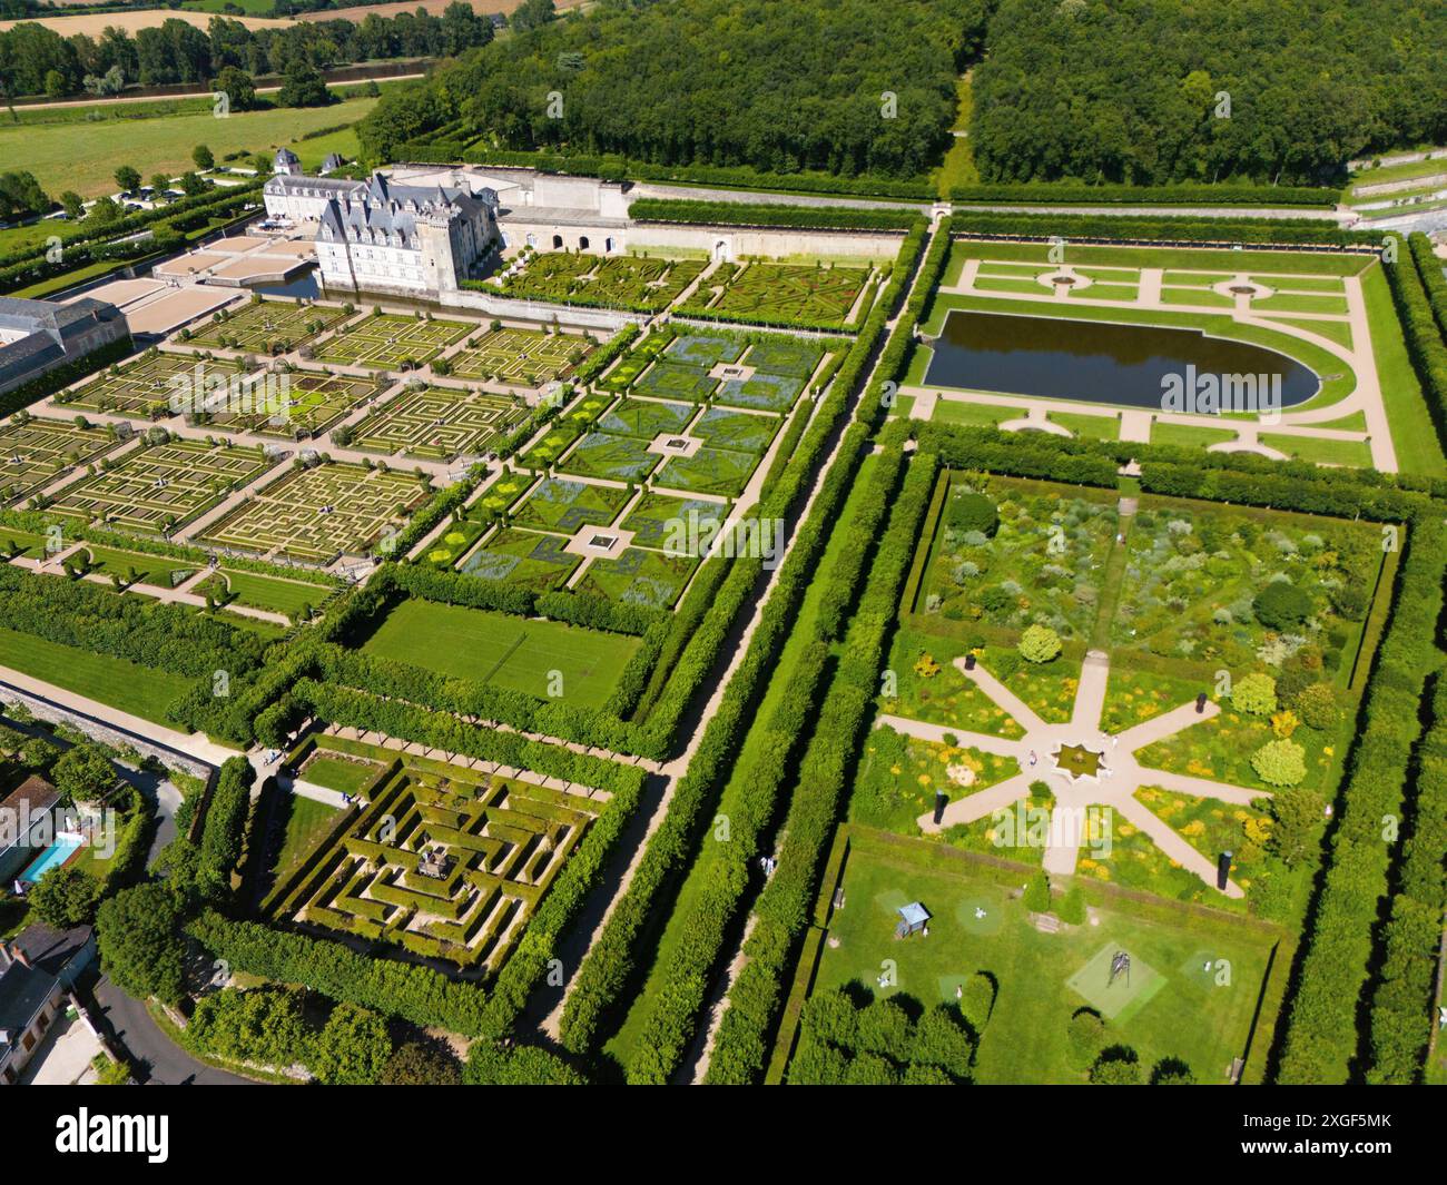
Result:
{"type": "Polygon", "coordinates": [[[1213,414],[1294,407],[1321,386],[1276,350],[1198,330],[956,311],[930,344],[928,386],[1004,395],[1213,414]]]}

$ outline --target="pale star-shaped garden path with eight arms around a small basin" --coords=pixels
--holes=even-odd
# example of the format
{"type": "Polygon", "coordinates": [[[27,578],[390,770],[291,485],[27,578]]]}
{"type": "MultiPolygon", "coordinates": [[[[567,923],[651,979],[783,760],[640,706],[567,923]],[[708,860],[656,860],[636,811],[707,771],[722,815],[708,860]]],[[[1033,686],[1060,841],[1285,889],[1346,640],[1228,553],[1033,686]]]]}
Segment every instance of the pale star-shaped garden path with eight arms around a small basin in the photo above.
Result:
{"type": "MultiPolygon", "coordinates": [[[[1110,658],[1103,650],[1092,650],[1085,655],[1069,723],[1043,722],[980,663],[975,663],[971,670],[965,667],[964,658],[956,658],[955,667],[997,706],[1009,712],[1024,728],[1024,736],[1011,741],[980,732],[948,729],[942,725],[903,716],[880,716],[875,725],[890,726],[897,732],[925,741],[943,742],[948,734],[958,745],[1014,757],[1022,773],[962,799],[955,799],[941,812],[939,822],[935,822],[933,812],[920,815],[917,822],[923,832],[933,835],[959,823],[974,823],[993,816],[1024,800],[1030,793],[1032,783],[1045,781],[1055,796],[1055,810],[1051,816],[1049,838],[1042,861],[1046,872],[1074,874],[1082,846],[1108,854],[1110,845],[1114,842],[1113,819],[1119,813],[1127,823],[1150,836],[1152,842],[1175,864],[1195,872],[1207,884],[1215,884],[1215,864],[1192,848],[1134,794],[1142,786],[1159,786],[1174,793],[1218,799],[1240,806],[1268,797],[1265,790],[1153,770],[1136,760],[1140,749],[1220,715],[1221,709],[1217,703],[1207,699],[1200,709],[1194,700],[1182,703],[1179,708],[1111,735],[1101,728],[1106,687],[1110,680],[1110,658]],[[1090,752],[1098,754],[1101,758],[1100,774],[1077,777],[1062,768],[1055,760],[1055,754],[1062,745],[1081,745],[1090,752]],[[1101,819],[1104,819],[1104,832],[1100,829],[1101,819]]],[[[1244,894],[1240,885],[1227,881],[1226,896],[1242,897],[1244,894]]]]}

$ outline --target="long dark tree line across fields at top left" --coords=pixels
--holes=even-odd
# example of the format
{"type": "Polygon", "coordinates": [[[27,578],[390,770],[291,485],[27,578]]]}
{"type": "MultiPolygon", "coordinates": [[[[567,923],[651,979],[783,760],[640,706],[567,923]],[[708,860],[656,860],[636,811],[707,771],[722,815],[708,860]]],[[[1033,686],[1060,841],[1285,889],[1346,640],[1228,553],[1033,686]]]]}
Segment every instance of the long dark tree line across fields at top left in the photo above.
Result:
{"type": "Polygon", "coordinates": [[[383,58],[438,58],[492,41],[492,22],[456,0],[441,16],[398,13],[391,20],[298,22],[249,29],[213,17],[205,29],[168,19],[135,33],[116,26],[100,36],[61,36],[22,22],[0,32],[0,93],[65,95],[88,90],[116,94],[123,87],[210,82],[227,68],[250,75],[285,74],[295,62],[324,68],[383,58]]]}

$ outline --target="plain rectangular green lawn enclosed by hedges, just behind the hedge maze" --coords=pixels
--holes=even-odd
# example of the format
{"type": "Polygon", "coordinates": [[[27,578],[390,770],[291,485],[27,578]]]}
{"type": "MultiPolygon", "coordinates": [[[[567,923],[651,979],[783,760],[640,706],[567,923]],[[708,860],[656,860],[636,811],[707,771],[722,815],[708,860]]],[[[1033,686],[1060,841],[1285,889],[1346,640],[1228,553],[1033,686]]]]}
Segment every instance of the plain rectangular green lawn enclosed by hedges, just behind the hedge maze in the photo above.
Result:
{"type": "Polygon", "coordinates": [[[638,647],[638,638],[624,634],[412,599],[392,609],[362,648],[538,699],[548,697],[556,670],[566,703],[598,708],[638,647]]]}

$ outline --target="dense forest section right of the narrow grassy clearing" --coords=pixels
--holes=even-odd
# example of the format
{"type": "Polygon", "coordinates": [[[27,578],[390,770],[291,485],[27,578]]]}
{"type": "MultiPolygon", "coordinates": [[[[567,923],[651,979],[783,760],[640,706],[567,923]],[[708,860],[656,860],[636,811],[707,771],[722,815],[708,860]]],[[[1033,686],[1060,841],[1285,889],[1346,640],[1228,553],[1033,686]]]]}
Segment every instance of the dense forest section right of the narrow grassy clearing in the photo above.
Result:
{"type": "Polygon", "coordinates": [[[1001,0],[983,181],[1321,184],[1447,136],[1440,0],[1001,0]]]}

